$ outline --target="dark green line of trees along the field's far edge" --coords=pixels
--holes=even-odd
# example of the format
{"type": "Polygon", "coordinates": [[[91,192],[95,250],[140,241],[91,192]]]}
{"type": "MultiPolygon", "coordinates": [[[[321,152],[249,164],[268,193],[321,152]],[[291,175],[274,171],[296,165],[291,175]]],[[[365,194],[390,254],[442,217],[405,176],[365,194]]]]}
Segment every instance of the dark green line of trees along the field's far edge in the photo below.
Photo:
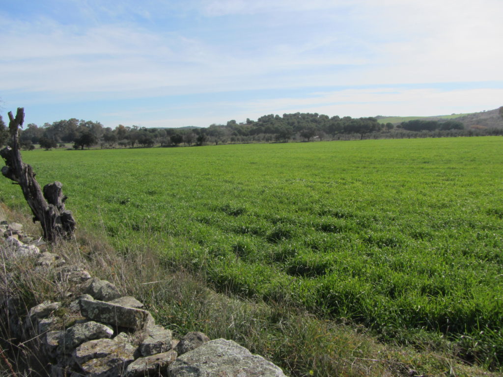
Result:
{"type": "MultiPolygon", "coordinates": [[[[317,113],[264,115],[257,121],[235,120],[224,124],[212,124],[206,128],[145,128],[118,125],[114,129],[100,122],[71,118],[43,126],[28,124],[20,131],[20,144],[24,149],[34,149],[35,144],[50,149],[66,147],[74,149],[116,147],[162,147],[185,144],[227,144],[249,142],[288,142],[313,140],[350,140],[371,138],[404,138],[429,136],[500,135],[502,130],[465,130],[461,122],[453,120],[413,120],[398,125],[381,124],[376,118],[328,117],[317,113]]],[[[7,140],[7,129],[0,116],[0,145],[7,140]]]]}

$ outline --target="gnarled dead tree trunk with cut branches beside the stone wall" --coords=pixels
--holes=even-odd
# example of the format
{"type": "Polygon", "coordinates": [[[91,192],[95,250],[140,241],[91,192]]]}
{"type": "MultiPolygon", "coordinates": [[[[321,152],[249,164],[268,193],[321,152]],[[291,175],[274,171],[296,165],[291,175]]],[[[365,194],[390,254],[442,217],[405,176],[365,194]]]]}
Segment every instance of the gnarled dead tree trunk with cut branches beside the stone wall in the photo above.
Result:
{"type": "Polygon", "coordinates": [[[2,174],[21,186],[23,195],[33,213],[33,221],[40,221],[44,239],[55,242],[58,239],[69,239],[75,230],[75,220],[70,211],[64,209],[66,197],[61,191],[60,182],[49,183],[44,191],[35,179],[33,168],[25,164],[19,151],[19,127],[23,125],[25,113],[18,108],[16,118],[9,112],[9,132],[12,138],[12,148],[5,147],[0,155],[7,166],[2,168],[2,174]]]}

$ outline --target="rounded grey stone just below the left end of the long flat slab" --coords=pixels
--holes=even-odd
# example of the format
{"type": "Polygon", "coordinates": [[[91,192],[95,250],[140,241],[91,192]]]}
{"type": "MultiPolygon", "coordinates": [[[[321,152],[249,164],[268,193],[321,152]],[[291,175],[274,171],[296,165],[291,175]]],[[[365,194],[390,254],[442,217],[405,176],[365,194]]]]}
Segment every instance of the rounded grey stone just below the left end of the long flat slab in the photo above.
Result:
{"type": "Polygon", "coordinates": [[[59,349],[71,353],[75,347],[93,339],[111,338],[114,330],[102,323],[90,321],[68,327],[61,336],[59,349]]]}

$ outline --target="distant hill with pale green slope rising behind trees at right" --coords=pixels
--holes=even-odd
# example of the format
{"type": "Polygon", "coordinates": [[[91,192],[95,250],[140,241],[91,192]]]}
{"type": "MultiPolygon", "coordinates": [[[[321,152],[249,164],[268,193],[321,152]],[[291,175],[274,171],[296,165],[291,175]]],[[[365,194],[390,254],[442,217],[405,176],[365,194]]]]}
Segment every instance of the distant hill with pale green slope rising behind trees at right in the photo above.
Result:
{"type": "Polygon", "coordinates": [[[503,128],[503,107],[478,113],[437,115],[433,117],[375,117],[379,123],[399,124],[416,119],[438,121],[442,119],[456,119],[465,128],[503,128]]]}

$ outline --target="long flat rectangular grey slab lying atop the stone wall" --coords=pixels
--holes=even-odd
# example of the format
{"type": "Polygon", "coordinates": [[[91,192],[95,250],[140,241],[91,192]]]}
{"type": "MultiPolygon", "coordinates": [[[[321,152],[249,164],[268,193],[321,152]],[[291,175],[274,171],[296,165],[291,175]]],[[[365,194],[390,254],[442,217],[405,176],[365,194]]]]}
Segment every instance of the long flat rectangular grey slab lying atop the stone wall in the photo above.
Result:
{"type": "Polygon", "coordinates": [[[143,329],[151,321],[151,315],[143,309],[128,308],[104,301],[80,300],[82,316],[113,326],[143,329]]]}

